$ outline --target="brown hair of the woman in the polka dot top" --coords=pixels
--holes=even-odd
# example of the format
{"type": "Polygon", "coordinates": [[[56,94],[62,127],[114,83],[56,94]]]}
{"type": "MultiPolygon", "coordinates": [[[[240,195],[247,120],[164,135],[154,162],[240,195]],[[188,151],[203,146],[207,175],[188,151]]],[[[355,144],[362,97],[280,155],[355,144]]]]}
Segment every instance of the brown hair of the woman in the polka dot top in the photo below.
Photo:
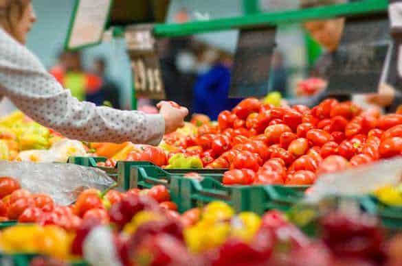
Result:
{"type": "Polygon", "coordinates": [[[0,0],[0,27],[12,34],[28,3],[29,0],[0,0]]]}

